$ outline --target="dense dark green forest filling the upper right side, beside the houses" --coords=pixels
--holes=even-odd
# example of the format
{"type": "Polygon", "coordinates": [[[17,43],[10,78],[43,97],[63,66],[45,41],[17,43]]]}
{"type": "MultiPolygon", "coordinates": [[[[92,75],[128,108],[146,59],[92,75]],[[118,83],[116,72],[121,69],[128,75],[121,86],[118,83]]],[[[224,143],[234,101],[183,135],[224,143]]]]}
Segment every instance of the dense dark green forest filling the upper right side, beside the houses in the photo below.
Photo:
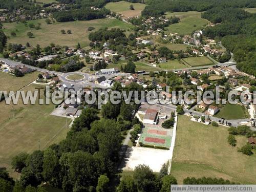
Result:
{"type": "Polygon", "coordinates": [[[205,29],[209,38],[222,37],[222,44],[234,54],[237,68],[256,76],[256,14],[239,8],[212,8],[202,14],[212,23],[221,23],[205,29]]]}

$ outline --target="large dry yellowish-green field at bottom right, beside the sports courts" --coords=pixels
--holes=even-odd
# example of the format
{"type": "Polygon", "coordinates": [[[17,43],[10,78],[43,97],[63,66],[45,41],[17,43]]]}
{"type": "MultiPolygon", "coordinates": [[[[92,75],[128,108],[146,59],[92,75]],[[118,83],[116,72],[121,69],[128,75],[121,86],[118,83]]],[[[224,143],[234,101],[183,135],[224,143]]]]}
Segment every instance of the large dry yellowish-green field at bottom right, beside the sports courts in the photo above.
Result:
{"type": "MultiPolygon", "coordinates": [[[[222,177],[241,184],[256,182],[256,155],[246,156],[237,152],[247,141],[245,136],[236,136],[238,146],[227,142],[227,128],[214,127],[178,118],[177,135],[171,174],[179,184],[186,177],[222,177]]],[[[255,152],[255,151],[254,151],[255,152]]]]}

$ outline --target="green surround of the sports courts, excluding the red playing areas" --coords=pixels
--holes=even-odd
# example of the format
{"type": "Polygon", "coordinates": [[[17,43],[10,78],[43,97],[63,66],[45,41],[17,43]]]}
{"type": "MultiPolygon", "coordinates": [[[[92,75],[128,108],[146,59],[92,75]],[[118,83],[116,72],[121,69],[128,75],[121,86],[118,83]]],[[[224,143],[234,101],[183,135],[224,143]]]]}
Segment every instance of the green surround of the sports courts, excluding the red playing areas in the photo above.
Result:
{"type": "Polygon", "coordinates": [[[170,143],[172,141],[172,129],[161,129],[161,131],[167,131],[167,135],[156,135],[156,134],[150,134],[147,133],[147,130],[149,129],[153,129],[153,130],[157,130],[155,128],[151,128],[151,127],[144,127],[142,129],[142,133],[139,139],[139,142],[142,142],[143,144],[148,144],[148,145],[155,145],[155,146],[165,146],[165,147],[170,147],[170,143]],[[155,143],[155,142],[148,142],[148,141],[144,141],[144,139],[146,137],[153,137],[153,138],[159,138],[159,139],[165,139],[165,143],[155,143]]]}

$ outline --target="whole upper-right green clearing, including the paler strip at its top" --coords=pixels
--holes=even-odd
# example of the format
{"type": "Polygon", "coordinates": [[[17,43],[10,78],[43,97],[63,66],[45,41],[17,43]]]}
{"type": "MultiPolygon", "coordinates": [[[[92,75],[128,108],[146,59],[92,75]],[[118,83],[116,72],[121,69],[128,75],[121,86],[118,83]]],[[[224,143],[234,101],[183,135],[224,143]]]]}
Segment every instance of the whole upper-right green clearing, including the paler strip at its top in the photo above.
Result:
{"type": "Polygon", "coordinates": [[[178,24],[170,25],[166,29],[170,33],[178,33],[181,35],[189,35],[193,31],[205,27],[208,23],[207,19],[201,18],[201,12],[197,11],[166,13],[166,16],[175,16],[180,18],[180,22],[178,24]]]}

